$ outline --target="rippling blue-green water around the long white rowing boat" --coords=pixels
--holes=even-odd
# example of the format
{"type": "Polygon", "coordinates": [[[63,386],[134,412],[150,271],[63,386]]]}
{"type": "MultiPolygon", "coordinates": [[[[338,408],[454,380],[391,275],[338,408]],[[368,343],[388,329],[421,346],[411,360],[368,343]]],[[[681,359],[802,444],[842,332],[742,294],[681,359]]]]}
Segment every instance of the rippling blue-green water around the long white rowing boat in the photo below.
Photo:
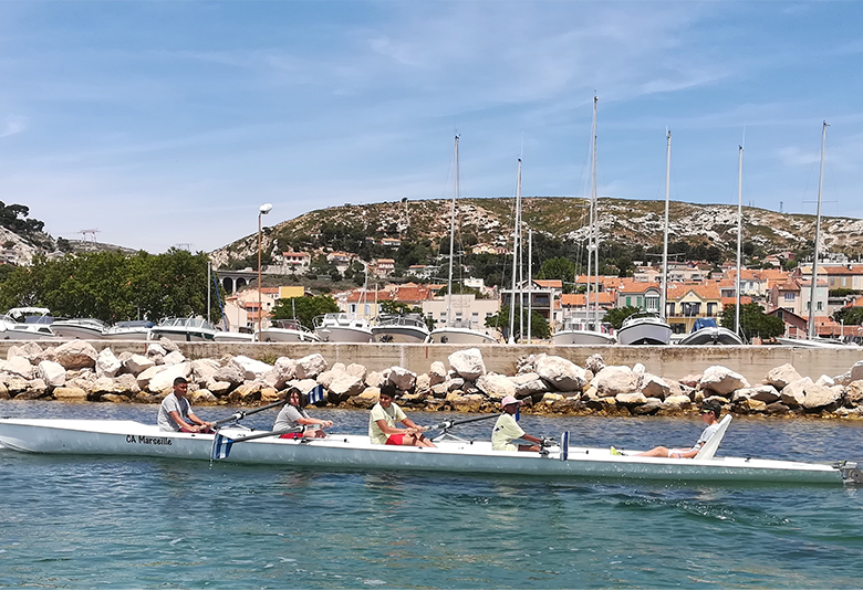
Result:
{"type": "MultiPolygon", "coordinates": [[[[0,402],[3,416],[153,422],[155,411],[0,402]]],[[[247,423],[269,426],[270,412],[247,423]]],[[[313,415],[342,432],[367,424],[358,411],[313,415]]],[[[701,429],[698,419],[521,423],[539,435],[570,430],[573,444],[640,448],[687,444],[701,429]]],[[[860,423],[738,419],[720,454],[863,458],[861,443],[860,423]]],[[[0,587],[857,589],[862,509],[863,487],[842,485],[554,483],[0,450],[0,587]]]]}

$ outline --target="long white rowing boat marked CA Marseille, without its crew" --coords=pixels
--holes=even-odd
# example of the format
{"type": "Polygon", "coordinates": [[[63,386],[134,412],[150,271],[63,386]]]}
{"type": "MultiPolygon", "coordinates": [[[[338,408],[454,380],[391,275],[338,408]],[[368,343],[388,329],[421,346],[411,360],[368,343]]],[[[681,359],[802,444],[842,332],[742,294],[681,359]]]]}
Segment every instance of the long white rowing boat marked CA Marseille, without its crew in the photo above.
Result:
{"type": "MultiPolygon", "coordinates": [[[[451,425],[453,422],[449,424],[451,425]]],[[[444,425],[444,423],[441,423],[444,425]]],[[[440,425],[438,425],[440,426],[440,425]]],[[[547,442],[541,452],[500,452],[488,441],[462,440],[444,429],[435,448],[374,445],[368,437],[331,434],[325,439],[280,439],[239,423],[217,435],[159,431],[136,421],[72,419],[0,419],[0,444],[19,452],[77,455],[122,455],[177,460],[227,461],[325,469],[434,471],[511,474],[551,478],[628,478],[680,482],[863,484],[856,463],[832,464],[750,457],[659,457],[612,455],[609,448],[547,442]],[[217,437],[233,443],[226,457],[215,453],[217,437]],[[248,442],[243,440],[249,440],[248,442]],[[242,442],[242,445],[238,443],[242,442]]],[[[710,444],[707,442],[705,447],[710,444]]],[[[713,447],[718,446],[715,442],[713,447]]]]}

